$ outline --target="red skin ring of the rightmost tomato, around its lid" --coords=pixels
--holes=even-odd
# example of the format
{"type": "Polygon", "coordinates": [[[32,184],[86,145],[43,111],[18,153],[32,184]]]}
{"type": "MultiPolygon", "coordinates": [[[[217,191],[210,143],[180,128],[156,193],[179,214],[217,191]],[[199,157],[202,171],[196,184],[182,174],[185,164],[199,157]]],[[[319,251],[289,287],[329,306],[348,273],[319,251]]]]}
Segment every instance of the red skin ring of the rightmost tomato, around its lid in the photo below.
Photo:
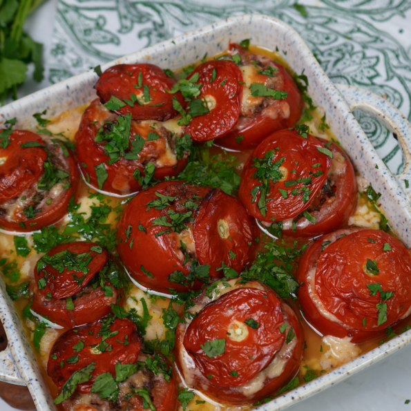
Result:
{"type": "MultiPolygon", "coordinates": [[[[312,327],[314,327],[323,335],[332,335],[338,338],[345,338],[346,336],[348,336],[352,338],[352,343],[365,343],[376,338],[385,337],[385,328],[388,327],[388,325],[391,325],[395,329],[408,319],[405,318],[403,320],[398,320],[391,324],[384,323],[379,327],[379,329],[374,329],[373,331],[363,331],[362,329],[355,329],[353,327],[344,327],[343,325],[328,320],[320,312],[318,312],[316,305],[314,304],[312,298],[309,296],[307,286],[307,272],[309,271],[310,267],[316,265],[316,262],[321,255],[321,245],[323,244],[323,242],[327,241],[332,236],[338,237],[341,234],[346,234],[347,236],[349,236],[350,233],[356,233],[359,231],[374,231],[376,233],[379,232],[379,230],[369,230],[365,228],[349,228],[340,229],[334,231],[334,233],[329,233],[321,238],[318,238],[316,241],[312,242],[309,247],[307,247],[305,253],[298,261],[298,270],[296,271],[296,279],[298,283],[300,283],[297,297],[305,321],[307,321],[307,323],[312,325],[312,327]]],[[[398,240],[396,240],[395,238],[392,238],[392,240],[394,240],[394,242],[396,243],[399,243],[405,249],[405,247],[398,240]]],[[[370,283],[372,283],[372,280],[370,280],[370,283]]]]}

